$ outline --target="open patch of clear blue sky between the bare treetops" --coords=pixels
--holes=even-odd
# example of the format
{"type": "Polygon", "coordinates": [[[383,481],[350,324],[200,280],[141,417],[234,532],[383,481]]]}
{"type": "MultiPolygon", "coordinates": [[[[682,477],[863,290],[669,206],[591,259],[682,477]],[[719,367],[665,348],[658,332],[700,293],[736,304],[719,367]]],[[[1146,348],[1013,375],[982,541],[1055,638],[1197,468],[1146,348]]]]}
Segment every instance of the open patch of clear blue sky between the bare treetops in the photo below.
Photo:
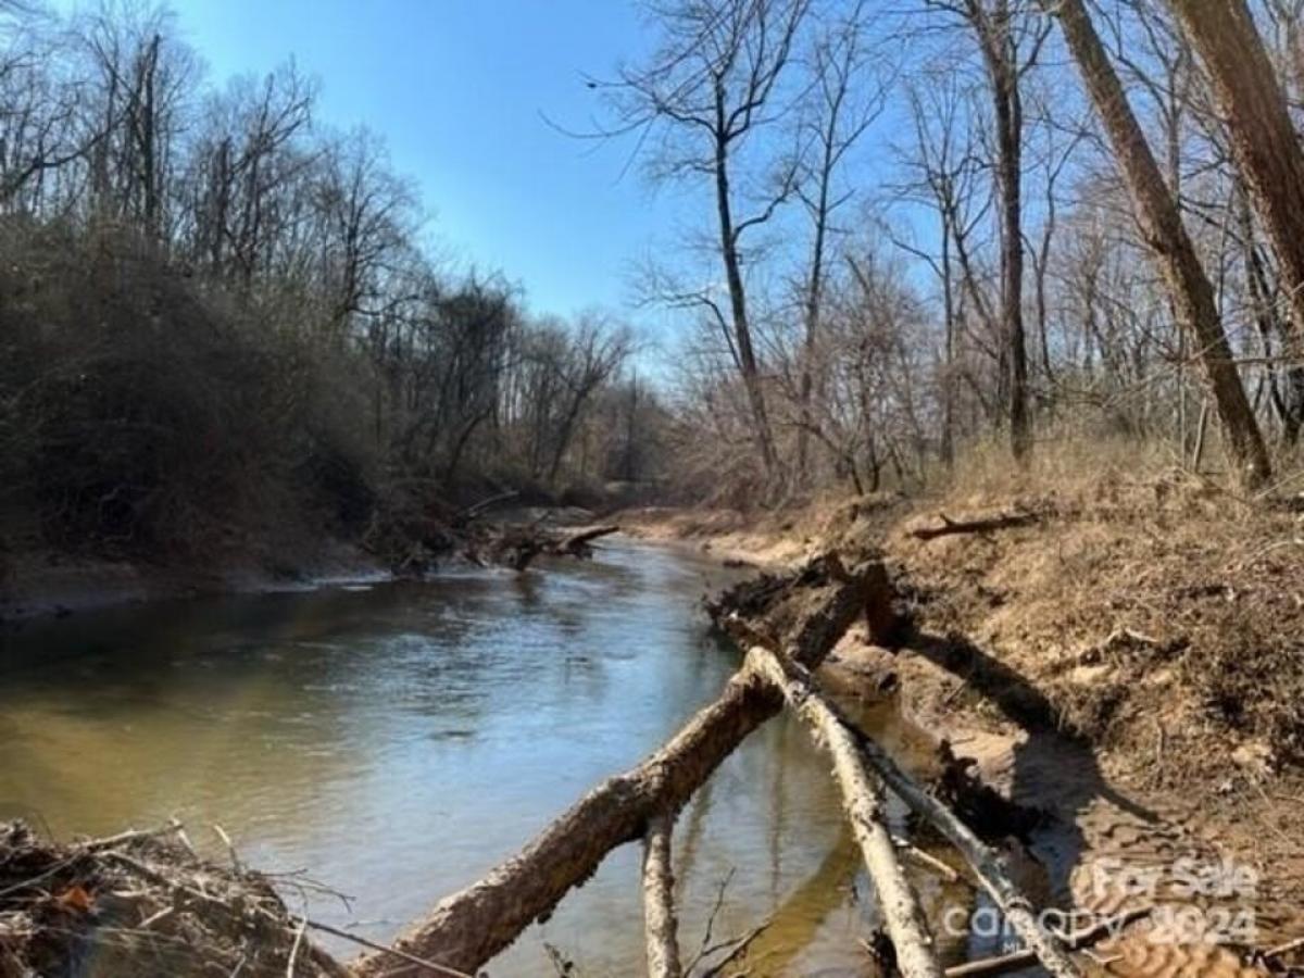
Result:
{"type": "Polygon", "coordinates": [[[532,309],[622,308],[629,266],[683,209],[625,173],[629,145],[578,141],[600,107],[582,74],[645,43],[623,0],[173,0],[211,81],[287,57],[321,83],[318,117],[364,123],[415,179],[460,262],[519,280],[532,309]]]}

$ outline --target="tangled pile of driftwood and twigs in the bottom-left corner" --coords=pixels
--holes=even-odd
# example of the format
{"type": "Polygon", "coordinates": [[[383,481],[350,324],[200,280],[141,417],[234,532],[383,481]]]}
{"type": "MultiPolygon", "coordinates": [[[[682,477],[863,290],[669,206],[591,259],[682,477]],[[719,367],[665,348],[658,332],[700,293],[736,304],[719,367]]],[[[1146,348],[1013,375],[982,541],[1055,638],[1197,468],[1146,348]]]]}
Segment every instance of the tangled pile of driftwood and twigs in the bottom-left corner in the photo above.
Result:
{"type": "Polygon", "coordinates": [[[73,845],[0,824],[0,977],[346,978],[267,878],[194,855],[179,824],[73,845]]]}

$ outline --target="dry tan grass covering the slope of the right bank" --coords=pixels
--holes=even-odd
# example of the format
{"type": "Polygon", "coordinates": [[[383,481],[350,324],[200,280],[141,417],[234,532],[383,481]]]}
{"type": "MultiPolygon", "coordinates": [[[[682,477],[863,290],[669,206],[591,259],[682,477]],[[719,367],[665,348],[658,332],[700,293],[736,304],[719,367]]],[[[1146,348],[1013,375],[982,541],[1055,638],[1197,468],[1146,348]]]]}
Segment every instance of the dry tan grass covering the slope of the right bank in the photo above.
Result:
{"type": "MultiPolygon", "coordinates": [[[[1286,485],[1291,481],[1287,480],[1286,485]]],[[[1247,498],[1162,449],[1064,442],[1018,471],[975,452],[888,536],[922,627],[958,632],[1065,728],[1171,764],[1304,759],[1304,523],[1282,488],[1247,498]],[[1035,510],[1030,527],[923,542],[919,522],[1035,510]]]]}

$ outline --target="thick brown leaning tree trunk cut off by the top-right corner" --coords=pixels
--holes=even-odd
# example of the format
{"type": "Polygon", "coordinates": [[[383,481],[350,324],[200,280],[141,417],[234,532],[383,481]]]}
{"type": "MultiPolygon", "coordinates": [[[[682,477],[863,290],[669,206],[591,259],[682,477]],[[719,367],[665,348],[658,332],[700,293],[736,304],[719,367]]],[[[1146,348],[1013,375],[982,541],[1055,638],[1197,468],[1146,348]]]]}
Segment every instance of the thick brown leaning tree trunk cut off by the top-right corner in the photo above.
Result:
{"type": "Polygon", "coordinates": [[[1245,0],[1170,0],[1205,63],[1304,338],[1304,154],[1245,0]]]}

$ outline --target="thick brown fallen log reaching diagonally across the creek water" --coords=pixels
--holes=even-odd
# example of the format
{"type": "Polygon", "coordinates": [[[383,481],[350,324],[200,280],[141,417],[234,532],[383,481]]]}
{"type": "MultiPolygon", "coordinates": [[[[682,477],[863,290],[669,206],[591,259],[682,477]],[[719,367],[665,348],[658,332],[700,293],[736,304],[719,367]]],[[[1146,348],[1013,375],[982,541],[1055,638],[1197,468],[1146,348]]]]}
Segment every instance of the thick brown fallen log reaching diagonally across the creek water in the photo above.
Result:
{"type": "MultiPolygon", "coordinates": [[[[891,604],[883,565],[842,566],[833,553],[808,562],[776,589],[751,626],[768,645],[815,669],[855,618],[891,604]]],[[[742,741],[782,708],[782,695],[754,669],[735,673],[720,698],[696,713],[642,764],[608,778],[546,825],[519,854],[442,900],[398,949],[447,968],[476,971],[584,883],[606,854],[642,838],[657,818],[677,812],[742,741]]],[[[361,978],[417,975],[393,956],[359,960],[361,978]]]]}

